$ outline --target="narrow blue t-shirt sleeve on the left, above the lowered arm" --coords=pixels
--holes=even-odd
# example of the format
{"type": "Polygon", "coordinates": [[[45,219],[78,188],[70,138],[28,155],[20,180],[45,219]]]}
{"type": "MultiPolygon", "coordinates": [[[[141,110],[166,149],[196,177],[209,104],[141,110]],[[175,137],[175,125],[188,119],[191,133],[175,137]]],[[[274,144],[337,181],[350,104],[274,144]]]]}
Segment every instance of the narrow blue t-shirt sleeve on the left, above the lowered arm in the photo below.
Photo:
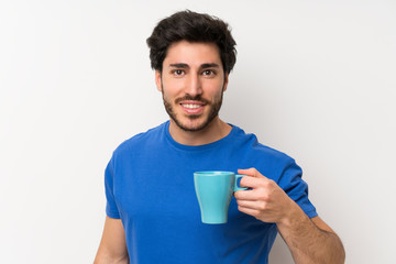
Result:
{"type": "Polygon", "coordinates": [[[106,213],[109,218],[120,219],[120,213],[114,197],[113,157],[110,160],[105,170],[105,188],[106,188],[106,199],[107,199],[106,213]]]}

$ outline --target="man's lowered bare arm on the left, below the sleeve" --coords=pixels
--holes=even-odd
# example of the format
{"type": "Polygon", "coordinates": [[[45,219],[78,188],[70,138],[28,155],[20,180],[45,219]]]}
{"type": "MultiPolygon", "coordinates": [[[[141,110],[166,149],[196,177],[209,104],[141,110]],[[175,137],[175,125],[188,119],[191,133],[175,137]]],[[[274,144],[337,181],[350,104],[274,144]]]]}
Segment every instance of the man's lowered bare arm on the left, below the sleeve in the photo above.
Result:
{"type": "Polygon", "coordinates": [[[125,233],[120,219],[106,218],[102,239],[94,264],[128,264],[125,233]]]}

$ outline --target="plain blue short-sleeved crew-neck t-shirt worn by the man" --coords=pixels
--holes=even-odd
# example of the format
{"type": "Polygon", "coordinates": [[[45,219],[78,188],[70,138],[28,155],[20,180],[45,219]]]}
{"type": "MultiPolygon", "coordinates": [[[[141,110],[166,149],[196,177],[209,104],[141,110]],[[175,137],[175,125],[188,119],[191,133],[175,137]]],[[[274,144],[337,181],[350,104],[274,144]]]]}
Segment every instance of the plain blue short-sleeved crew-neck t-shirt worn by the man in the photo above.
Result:
{"type": "Polygon", "coordinates": [[[267,263],[276,226],[240,212],[234,198],[227,223],[202,223],[194,172],[255,167],[317,216],[300,167],[255,135],[232,125],[217,142],[188,146],[168,128],[167,121],[123,142],[106,168],[106,211],[122,220],[131,263],[267,263]]]}

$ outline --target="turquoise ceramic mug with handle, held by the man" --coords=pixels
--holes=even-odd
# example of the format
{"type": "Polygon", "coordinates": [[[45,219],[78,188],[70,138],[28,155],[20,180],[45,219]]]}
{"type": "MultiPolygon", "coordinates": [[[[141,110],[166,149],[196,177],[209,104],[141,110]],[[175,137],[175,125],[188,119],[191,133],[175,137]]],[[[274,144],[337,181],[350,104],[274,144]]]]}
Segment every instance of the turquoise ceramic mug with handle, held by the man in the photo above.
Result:
{"type": "Polygon", "coordinates": [[[231,172],[194,173],[194,185],[204,223],[227,223],[232,194],[248,189],[238,186],[238,179],[246,175],[231,172]]]}

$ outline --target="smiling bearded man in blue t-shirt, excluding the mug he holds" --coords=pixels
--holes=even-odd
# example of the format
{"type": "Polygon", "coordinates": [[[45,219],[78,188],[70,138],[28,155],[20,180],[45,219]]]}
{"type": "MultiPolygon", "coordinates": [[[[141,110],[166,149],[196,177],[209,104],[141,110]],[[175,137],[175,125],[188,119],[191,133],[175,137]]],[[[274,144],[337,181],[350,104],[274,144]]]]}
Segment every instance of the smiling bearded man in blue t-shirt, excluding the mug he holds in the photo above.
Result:
{"type": "Polygon", "coordinates": [[[170,118],[114,151],[95,263],[267,263],[277,231],[296,263],[343,263],[342,243],[318,217],[294,160],[218,116],[237,53],[228,25],[177,12],[147,44],[170,118]],[[248,175],[228,223],[201,223],[197,170],[248,175]]]}

